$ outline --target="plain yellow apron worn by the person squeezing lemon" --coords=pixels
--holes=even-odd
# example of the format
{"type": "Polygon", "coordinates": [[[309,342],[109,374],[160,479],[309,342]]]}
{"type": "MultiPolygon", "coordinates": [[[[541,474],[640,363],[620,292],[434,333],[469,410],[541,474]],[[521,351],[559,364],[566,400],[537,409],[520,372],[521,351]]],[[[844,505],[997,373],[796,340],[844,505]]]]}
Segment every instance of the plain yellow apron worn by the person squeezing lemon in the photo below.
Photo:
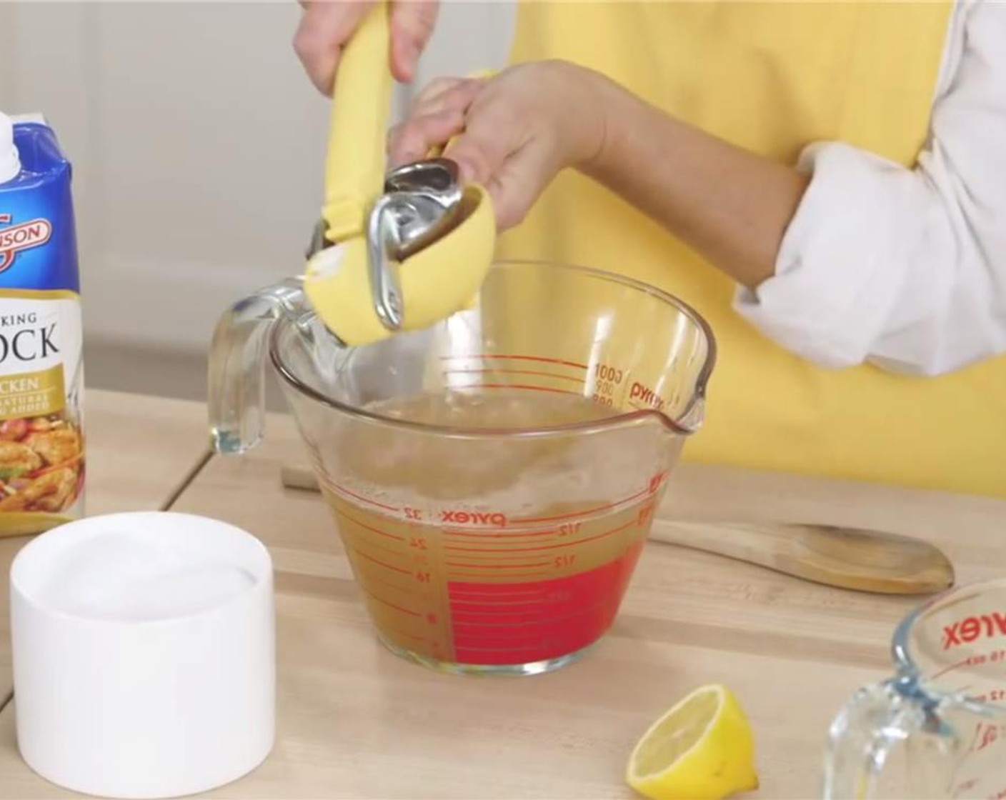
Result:
{"type": "MultiPolygon", "coordinates": [[[[521,2],[512,60],[593,67],[785,163],[810,142],[838,139],[911,166],[927,135],[951,8],[521,2]]],[[[1006,358],[936,378],[870,365],[819,368],[733,312],[727,277],[572,171],[501,237],[498,255],[619,272],[705,316],[719,353],[705,425],[685,448],[689,460],[1006,497],[1006,358]]]]}

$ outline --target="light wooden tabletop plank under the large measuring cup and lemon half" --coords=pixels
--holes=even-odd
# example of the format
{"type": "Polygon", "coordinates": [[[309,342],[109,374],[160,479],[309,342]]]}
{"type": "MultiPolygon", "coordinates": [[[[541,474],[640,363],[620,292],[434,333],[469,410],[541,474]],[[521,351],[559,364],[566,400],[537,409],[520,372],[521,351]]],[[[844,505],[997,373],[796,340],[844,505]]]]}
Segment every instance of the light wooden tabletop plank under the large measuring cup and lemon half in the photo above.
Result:
{"type": "MultiPolygon", "coordinates": [[[[885,676],[892,627],[916,602],[651,544],[584,660],[522,679],[436,674],[375,642],[320,498],[280,485],[281,464],[303,459],[293,426],[270,422],[260,449],[214,458],[173,506],[254,532],[277,569],[279,740],[209,797],[629,798],[637,737],[707,681],[728,683],[751,716],[752,796],[819,796],[828,723],[885,676]]],[[[682,465],[664,512],[874,526],[939,543],[961,582],[1006,575],[1006,503],[990,500],[682,465]]],[[[0,714],[0,797],[71,797],[20,762],[13,705],[0,714]]]]}

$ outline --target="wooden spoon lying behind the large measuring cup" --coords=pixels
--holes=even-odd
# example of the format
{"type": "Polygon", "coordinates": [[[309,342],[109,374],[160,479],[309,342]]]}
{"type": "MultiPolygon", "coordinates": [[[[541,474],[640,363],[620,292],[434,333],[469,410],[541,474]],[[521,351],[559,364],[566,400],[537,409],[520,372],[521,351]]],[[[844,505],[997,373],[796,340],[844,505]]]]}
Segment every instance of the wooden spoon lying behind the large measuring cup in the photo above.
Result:
{"type": "MultiPolygon", "coordinates": [[[[285,465],[283,485],[318,491],[307,467],[285,465]]],[[[926,595],[954,585],[939,547],[910,536],[835,525],[684,522],[660,509],[650,539],[756,564],[817,584],[885,595],[926,595]]]]}

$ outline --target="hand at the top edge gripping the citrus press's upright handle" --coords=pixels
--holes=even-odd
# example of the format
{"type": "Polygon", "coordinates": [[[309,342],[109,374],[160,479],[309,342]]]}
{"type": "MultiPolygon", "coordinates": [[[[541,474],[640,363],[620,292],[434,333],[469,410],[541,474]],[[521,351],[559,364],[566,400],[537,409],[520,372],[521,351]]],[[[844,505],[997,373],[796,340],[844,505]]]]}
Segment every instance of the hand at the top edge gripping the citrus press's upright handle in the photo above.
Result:
{"type": "MultiPolygon", "coordinates": [[[[298,0],[304,11],[294,36],[294,49],[319,92],[332,96],[335,70],[373,0],[298,0]]],[[[390,5],[390,68],[396,81],[408,83],[437,23],[437,0],[393,0],[390,5]]]]}

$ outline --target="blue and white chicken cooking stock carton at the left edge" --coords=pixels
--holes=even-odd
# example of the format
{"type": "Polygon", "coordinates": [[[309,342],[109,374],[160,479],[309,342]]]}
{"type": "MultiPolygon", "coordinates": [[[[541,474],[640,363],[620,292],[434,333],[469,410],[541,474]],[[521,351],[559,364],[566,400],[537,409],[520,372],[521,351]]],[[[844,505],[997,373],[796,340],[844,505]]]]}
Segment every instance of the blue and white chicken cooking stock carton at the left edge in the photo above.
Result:
{"type": "Polygon", "coordinates": [[[0,536],[83,515],[80,286],[71,166],[41,118],[15,119],[0,183],[0,536]]]}

